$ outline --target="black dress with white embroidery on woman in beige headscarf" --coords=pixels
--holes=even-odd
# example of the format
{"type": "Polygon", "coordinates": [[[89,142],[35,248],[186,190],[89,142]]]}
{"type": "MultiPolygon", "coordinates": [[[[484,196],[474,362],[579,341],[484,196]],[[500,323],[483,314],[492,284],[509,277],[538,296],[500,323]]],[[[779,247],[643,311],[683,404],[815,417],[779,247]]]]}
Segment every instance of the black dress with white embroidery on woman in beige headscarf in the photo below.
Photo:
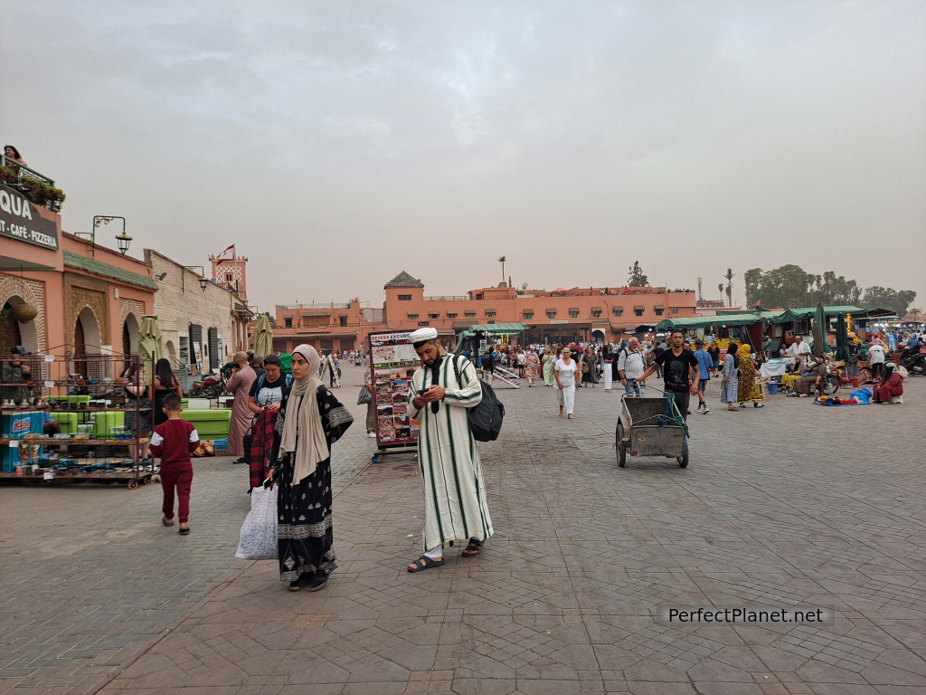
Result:
{"type": "MultiPolygon", "coordinates": [[[[338,565],[334,560],[334,536],[332,532],[332,444],[336,442],[351,423],[354,416],[334,398],[325,386],[318,391],[319,416],[328,440],[329,456],[318,464],[315,472],[301,483],[293,484],[294,453],[288,453],[277,461],[283,423],[290,407],[301,408],[290,402],[290,389],[284,389],[280,415],[273,436],[270,461],[276,461],[277,489],[277,543],[280,552],[280,578],[293,582],[299,575],[314,575],[316,571],[329,573],[338,565]]],[[[297,417],[298,411],[293,412],[297,417]]],[[[299,437],[296,435],[296,448],[299,437]]]]}

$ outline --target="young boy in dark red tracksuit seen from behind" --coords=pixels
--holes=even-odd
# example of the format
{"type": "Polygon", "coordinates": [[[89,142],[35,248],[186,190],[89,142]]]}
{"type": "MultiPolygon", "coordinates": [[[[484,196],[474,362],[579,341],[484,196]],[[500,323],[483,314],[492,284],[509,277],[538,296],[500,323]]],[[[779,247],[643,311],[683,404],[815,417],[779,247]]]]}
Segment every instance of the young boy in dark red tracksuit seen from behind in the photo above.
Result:
{"type": "Polygon", "coordinates": [[[160,423],[151,436],[151,455],[161,460],[161,488],[164,490],[164,504],[161,509],[161,524],[173,525],[174,488],[180,501],[180,533],[190,533],[190,487],[193,485],[193,463],[190,454],[199,447],[199,435],[193,423],[180,419],[183,411],[180,396],[168,394],[164,397],[164,413],[168,422],[160,423]]]}

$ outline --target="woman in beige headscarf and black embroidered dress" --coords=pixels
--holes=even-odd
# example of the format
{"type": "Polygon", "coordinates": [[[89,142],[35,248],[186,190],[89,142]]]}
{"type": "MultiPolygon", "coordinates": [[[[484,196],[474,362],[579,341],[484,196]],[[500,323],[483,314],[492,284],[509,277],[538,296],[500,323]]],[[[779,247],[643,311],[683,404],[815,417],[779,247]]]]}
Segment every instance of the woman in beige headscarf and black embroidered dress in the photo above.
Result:
{"type": "Polygon", "coordinates": [[[318,591],[337,567],[332,533],[332,444],[353,416],[319,378],[314,347],[293,351],[293,385],[283,391],[268,477],[279,484],[280,578],[290,591],[318,591]]]}

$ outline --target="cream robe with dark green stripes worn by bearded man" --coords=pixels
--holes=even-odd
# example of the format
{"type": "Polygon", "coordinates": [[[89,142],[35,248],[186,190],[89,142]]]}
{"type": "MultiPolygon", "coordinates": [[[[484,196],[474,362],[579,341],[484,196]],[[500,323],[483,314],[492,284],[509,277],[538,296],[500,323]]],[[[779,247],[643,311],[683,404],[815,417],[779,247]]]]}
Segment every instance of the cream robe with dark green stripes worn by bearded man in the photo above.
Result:
{"type": "Polygon", "coordinates": [[[472,362],[462,356],[444,355],[438,367],[438,385],[444,400],[438,411],[432,404],[415,408],[419,390],[434,383],[433,370],[419,367],[408,390],[408,415],[418,420],[418,458],[424,485],[424,550],[448,546],[455,540],[492,536],[492,519],[485,499],[482,463],[469,431],[467,408],[482,400],[482,386],[472,362]],[[460,388],[452,360],[457,360],[460,388]]]}

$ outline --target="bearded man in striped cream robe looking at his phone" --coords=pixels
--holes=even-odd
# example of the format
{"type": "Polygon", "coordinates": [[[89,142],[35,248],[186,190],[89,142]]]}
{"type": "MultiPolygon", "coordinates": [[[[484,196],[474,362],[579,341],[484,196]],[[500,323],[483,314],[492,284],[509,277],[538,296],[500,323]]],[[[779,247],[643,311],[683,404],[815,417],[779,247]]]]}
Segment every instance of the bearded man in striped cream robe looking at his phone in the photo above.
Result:
{"type": "Polygon", "coordinates": [[[455,541],[469,541],[463,557],[479,555],[494,532],[467,414],[482,401],[476,368],[465,357],[444,352],[433,328],[419,328],[408,342],[421,360],[408,389],[408,415],[420,423],[424,488],[424,554],[408,572],[421,572],[443,565],[444,547],[455,541]]]}

